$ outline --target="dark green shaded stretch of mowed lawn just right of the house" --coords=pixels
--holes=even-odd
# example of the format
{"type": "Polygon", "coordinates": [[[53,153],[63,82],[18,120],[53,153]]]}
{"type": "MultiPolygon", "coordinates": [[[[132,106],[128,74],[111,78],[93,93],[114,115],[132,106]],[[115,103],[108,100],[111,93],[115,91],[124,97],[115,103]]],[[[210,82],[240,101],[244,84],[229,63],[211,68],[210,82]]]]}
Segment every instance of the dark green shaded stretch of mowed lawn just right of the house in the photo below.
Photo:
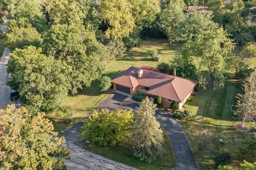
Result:
{"type": "Polygon", "coordinates": [[[223,89],[205,90],[192,96],[188,105],[191,112],[197,116],[230,121],[239,92],[241,90],[237,82],[227,81],[223,89]]]}

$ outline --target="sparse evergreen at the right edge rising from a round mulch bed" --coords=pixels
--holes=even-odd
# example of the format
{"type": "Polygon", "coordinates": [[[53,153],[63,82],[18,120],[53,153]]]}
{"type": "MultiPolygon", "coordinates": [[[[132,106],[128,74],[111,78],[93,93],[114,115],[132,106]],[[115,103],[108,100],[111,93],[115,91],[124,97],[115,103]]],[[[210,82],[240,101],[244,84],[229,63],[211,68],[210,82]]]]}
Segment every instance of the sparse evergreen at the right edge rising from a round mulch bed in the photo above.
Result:
{"type": "Polygon", "coordinates": [[[251,120],[256,115],[256,70],[243,84],[244,94],[238,94],[235,114],[245,120],[251,120]]]}

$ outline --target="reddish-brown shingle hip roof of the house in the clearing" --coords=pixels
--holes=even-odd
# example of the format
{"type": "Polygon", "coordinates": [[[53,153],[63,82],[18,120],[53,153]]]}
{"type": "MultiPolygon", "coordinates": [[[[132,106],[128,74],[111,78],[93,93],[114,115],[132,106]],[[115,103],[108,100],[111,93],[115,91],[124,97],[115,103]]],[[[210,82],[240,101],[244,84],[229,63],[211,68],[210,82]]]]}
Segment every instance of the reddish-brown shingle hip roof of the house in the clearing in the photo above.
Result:
{"type": "Polygon", "coordinates": [[[196,85],[194,81],[188,79],[146,69],[141,69],[143,70],[143,74],[141,78],[138,78],[137,72],[140,69],[132,66],[121,74],[118,74],[112,82],[129,88],[135,88],[138,85],[149,87],[148,94],[160,95],[179,102],[182,102],[196,85]]]}

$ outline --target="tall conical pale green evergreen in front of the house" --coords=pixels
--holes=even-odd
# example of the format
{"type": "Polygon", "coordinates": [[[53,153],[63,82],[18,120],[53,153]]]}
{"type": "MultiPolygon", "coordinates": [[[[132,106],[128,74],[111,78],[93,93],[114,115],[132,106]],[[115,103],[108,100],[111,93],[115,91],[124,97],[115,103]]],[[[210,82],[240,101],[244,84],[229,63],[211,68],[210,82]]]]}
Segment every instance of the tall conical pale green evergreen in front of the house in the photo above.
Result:
{"type": "Polygon", "coordinates": [[[155,118],[156,105],[148,97],[134,114],[130,142],[134,156],[151,162],[163,154],[163,131],[155,118]]]}

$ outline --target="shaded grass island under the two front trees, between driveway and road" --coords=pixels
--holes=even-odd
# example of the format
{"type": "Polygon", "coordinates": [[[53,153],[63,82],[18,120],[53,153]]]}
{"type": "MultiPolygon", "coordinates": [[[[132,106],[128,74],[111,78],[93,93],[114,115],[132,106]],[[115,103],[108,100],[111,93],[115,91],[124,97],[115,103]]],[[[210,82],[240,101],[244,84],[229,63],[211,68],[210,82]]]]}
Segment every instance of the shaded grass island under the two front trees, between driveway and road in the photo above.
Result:
{"type": "Polygon", "coordinates": [[[163,154],[163,157],[159,157],[151,163],[143,162],[138,158],[134,157],[131,151],[132,147],[127,142],[121,143],[117,146],[100,147],[94,145],[91,147],[86,146],[85,148],[86,150],[91,151],[95,154],[99,154],[108,159],[115,160],[116,162],[120,162],[138,169],[172,169],[173,167],[175,167],[175,157],[173,154],[173,149],[171,147],[171,141],[165,132],[163,147],[166,151],[163,154]]]}

